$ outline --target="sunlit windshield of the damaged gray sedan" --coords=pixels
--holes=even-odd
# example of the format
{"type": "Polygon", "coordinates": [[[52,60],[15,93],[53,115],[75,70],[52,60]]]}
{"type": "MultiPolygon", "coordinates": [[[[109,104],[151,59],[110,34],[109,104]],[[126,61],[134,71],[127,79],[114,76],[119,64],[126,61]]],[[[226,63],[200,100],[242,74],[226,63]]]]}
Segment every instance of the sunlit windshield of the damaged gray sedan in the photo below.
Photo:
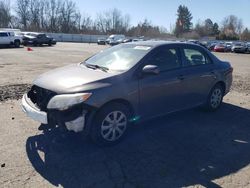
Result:
{"type": "Polygon", "coordinates": [[[113,71],[126,71],[141,60],[150,49],[149,46],[118,45],[92,56],[85,63],[106,67],[113,71]]]}

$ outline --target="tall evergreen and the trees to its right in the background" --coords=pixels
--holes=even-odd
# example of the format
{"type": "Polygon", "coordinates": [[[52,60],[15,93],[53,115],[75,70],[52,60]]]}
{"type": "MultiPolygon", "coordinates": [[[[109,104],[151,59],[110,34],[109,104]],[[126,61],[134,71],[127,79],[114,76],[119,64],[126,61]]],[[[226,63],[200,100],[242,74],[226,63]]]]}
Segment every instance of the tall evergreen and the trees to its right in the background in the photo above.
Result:
{"type": "Polygon", "coordinates": [[[220,27],[210,18],[199,21],[194,26],[192,19],[188,7],[180,5],[177,10],[174,34],[184,38],[213,37],[220,40],[250,40],[248,28],[244,29],[242,20],[235,15],[225,17],[220,27]]]}

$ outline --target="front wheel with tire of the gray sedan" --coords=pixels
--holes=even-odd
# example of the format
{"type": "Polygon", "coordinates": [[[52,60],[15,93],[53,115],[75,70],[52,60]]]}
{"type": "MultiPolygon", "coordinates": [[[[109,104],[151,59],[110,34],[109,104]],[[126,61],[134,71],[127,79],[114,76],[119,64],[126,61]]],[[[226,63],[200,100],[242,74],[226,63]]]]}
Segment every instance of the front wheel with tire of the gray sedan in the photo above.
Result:
{"type": "Polygon", "coordinates": [[[129,109],[120,103],[111,103],[103,107],[92,122],[90,136],[99,146],[111,146],[119,143],[127,134],[129,109]],[[116,121],[114,121],[116,119],[116,121]]]}

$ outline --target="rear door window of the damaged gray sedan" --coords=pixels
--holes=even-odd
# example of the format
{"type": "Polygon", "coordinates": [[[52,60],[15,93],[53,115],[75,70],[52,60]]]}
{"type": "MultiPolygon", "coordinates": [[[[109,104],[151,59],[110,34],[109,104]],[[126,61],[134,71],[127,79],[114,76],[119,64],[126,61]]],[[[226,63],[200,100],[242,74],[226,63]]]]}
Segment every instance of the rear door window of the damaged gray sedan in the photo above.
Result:
{"type": "Polygon", "coordinates": [[[184,49],[187,66],[205,65],[211,63],[202,52],[195,49],[184,49]]]}

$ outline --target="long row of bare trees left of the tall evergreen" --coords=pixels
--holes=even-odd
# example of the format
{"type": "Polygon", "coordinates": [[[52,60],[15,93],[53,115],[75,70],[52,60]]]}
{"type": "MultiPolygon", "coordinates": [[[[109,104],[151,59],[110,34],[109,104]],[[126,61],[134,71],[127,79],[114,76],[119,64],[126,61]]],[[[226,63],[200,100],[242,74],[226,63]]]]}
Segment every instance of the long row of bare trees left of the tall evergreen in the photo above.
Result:
{"type": "Polygon", "coordinates": [[[72,0],[16,0],[12,8],[9,0],[0,0],[0,28],[4,27],[37,32],[130,36],[159,36],[165,31],[147,19],[131,27],[130,16],[116,8],[98,13],[92,19],[81,13],[72,0]]]}

